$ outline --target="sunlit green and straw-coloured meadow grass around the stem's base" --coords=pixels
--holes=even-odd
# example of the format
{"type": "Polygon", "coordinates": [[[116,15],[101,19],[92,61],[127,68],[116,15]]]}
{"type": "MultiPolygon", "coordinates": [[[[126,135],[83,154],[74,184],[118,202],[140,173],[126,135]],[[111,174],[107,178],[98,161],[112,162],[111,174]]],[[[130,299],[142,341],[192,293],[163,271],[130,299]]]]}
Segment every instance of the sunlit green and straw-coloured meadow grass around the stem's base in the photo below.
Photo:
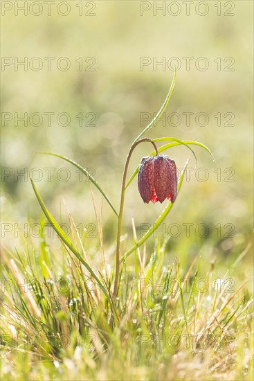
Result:
{"type": "MultiPolygon", "coordinates": [[[[221,278],[199,254],[186,269],[167,263],[166,243],[121,263],[116,312],[66,245],[3,249],[3,380],[253,380],[253,299],[237,278],[249,247],[221,278]]],[[[109,290],[114,261],[100,251],[109,290]]]]}

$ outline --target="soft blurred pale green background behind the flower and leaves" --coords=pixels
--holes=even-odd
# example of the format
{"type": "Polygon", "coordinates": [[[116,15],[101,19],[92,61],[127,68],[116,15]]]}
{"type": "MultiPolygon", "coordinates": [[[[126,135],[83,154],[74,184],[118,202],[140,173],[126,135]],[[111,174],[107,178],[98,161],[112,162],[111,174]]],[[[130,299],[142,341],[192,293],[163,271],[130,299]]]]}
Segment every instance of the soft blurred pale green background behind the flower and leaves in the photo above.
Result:
{"type": "MultiPolygon", "coordinates": [[[[2,15],[3,3],[6,2],[2,2],[2,15]]],[[[216,163],[207,152],[194,148],[198,168],[206,168],[208,179],[201,181],[204,172],[199,172],[200,177],[192,175],[190,181],[184,181],[163,227],[165,236],[167,229],[172,229],[175,236],[167,243],[167,260],[178,256],[190,263],[199,252],[208,261],[235,260],[251,241],[252,233],[253,2],[205,1],[205,6],[199,4],[197,8],[200,2],[195,1],[187,15],[182,1],[179,6],[176,1],[55,1],[51,15],[43,4],[42,13],[37,16],[33,15],[41,9],[37,2],[28,1],[28,15],[16,9],[15,2],[8,3],[12,3],[12,8],[4,10],[1,26],[1,212],[2,223],[12,224],[13,229],[2,232],[4,244],[19,245],[24,233],[17,229],[28,223],[29,235],[30,224],[39,221],[41,212],[29,181],[31,173],[34,179],[38,177],[35,168],[42,170],[42,178],[35,184],[58,222],[68,223],[64,199],[76,224],[96,224],[89,182],[84,178],[79,181],[75,168],[68,163],[36,155],[36,151],[57,152],[85,168],[93,168],[91,173],[118,207],[127,152],[145,127],[145,123],[140,123],[140,113],[149,113],[147,118],[151,120],[158,112],[172,81],[172,67],[180,62],[166,110],[169,121],[164,125],[158,121],[147,136],[201,141],[212,150],[216,163]],[[158,5],[166,8],[158,10],[158,5]],[[68,11],[68,15],[63,15],[68,11]],[[17,61],[26,60],[24,57],[28,64],[15,67],[17,61]],[[51,71],[44,57],[54,57],[51,71]],[[65,67],[62,57],[70,63],[66,71],[57,67],[57,63],[65,67]],[[152,63],[140,69],[141,57],[149,57],[147,61],[152,63]],[[190,57],[190,68],[184,57],[190,57]],[[201,70],[205,61],[200,57],[206,57],[206,70],[201,70]],[[164,67],[156,65],[163,60],[164,67]],[[42,64],[39,70],[38,64],[42,64]],[[55,114],[48,126],[45,113],[51,112],[55,114]],[[193,113],[189,125],[183,114],[186,112],[193,113]],[[24,121],[17,123],[15,113],[19,117],[28,113],[28,125],[24,121]],[[33,113],[42,115],[38,126],[36,115],[33,123],[29,121],[33,113]],[[65,123],[64,116],[61,123],[57,121],[61,113],[69,115],[70,123],[65,127],[60,125],[65,123]],[[77,117],[80,113],[82,126],[77,117]],[[171,113],[177,114],[170,116],[171,113]],[[95,120],[89,124],[91,118],[95,120]],[[17,177],[17,171],[24,168],[28,179],[17,177]],[[45,168],[55,168],[51,181],[45,168]],[[68,172],[61,172],[61,168],[68,172]],[[61,180],[60,176],[64,179],[66,173],[70,179],[61,180]],[[190,237],[183,224],[191,224],[190,237]],[[209,233],[204,233],[202,227],[195,232],[199,224],[206,224],[209,233]]],[[[21,6],[24,2],[16,3],[21,6]]],[[[146,143],[136,149],[129,175],[150,152],[146,143]]],[[[176,161],[179,170],[189,157],[190,168],[194,168],[187,148],[178,146],[166,153],[176,161]]],[[[102,197],[96,188],[93,195],[100,215],[102,197]]],[[[129,186],[125,200],[123,233],[129,235],[123,250],[132,244],[131,218],[140,236],[140,224],[152,223],[164,208],[161,204],[143,204],[136,180],[129,186]]],[[[116,219],[105,202],[102,222],[105,247],[109,249],[116,236],[116,219]]],[[[91,253],[99,247],[97,228],[95,236],[84,238],[91,253]]],[[[162,240],[163,233],[158,232],[157,238],[162,240]]],[[[38,239],[34,241],[37,245],[38,239]]],[[[52,245],[56,249],[60,246],[57,238],[52,245]]],[[[153,245],[151,238],[148,246],[153,245]]],[[[248,264],[251,256],[247,258],[248,264]]],[[[250,272],[248,268],[244,270],[244,274],[250,272]]]]}

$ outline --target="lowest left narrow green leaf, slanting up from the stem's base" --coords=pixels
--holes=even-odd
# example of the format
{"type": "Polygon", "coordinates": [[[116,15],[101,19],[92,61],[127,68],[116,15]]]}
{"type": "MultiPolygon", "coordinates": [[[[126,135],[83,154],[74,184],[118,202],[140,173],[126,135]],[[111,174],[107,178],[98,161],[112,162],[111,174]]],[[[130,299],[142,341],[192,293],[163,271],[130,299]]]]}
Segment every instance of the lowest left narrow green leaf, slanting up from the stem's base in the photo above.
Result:
{"type": "Polygon", "coordinates": [[[53,218],[53,216],[51,215],[51,213],[48,211],[48,209],[46,209],[46,206],[42,200],[42,197],[39,195],[39,192],[37,190],[37,188],[35,187],[35,184],[33,182],[33,179],[30,179],[31,183],[32,183],[32,186],[33,186],[33,190],[35,191],[35,195],[37,197],[37,200],[39,201],[39,204],[42,208],[42,211],[44,212],[44,214],[46,215],[46,218],[48,219],[48,222],[50,222],[51,226],[53,227],[53,229],[55,230],[55,232],[57,233],[57,236],[59,236],[61,238],[61,240],[65,243],[66,246],[69,247],[69,249],[73,252],[73,254],[80,260],[80,262],[82,263],[82,265],[84,265],[84,267],[87,268],[87,270],[89,271],[89,273],[91,274],[91,276],[93,276],[93,278],[96,280],[96,282],[98,283],[98,286],[101,288],[102,292],[104,292],[105,296],[107,297],[107,299],[109,301],[110,300],[110,297],[109,297],[109,294],[107,293],[107,290],[105,289],[105,287],[102,285],[102,282],[100,281],[100,279],[98,278],[98,276],[95,274],[95,272],[93,272],[93,269],[91,269],[91,267],[88,265],[88,263],[84,260],[84,258],[80,255],[80,253],[78,252],[77,249],[75,249],[75,247],[73,246],[73,244],[71,243],[71,241],[69,240],[69,238],[66,236],[66,234],[64,233],[64,231],[60,228],[59,224],[57,224],[57,222],[55,221],[55,218],[53,218]]]}

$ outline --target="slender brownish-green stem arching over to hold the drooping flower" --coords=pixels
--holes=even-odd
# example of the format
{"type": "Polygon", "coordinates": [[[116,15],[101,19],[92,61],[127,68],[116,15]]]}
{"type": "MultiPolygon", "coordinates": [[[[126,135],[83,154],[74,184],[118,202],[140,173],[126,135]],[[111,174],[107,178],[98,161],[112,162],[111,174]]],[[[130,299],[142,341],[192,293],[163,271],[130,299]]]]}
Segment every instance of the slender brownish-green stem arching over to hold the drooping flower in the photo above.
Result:
{"type": "Polygon", "coordinates": [[[118,228],[117,228],[117,236],[116,236],[116,276],[115,276],[115,283],[114,283],[113,299],[116,299],[117,292],[118,292],[118,278],[119,278],[119,269],[120,269],[120,236],[121,236],[121,227],[122,227],[122,219],[123,219],[123,205],[125,201],[125,182],[127,177],[127,170],[129,166],[129,160],[131,159],[131,154],[134,151],[134,148],[136,148],[136,146],[139,143],[143,143],[144,141],[149,141],[149,143],[152,143],[152,145],[154,145],[156,154],[158,154],[156,144],[152,141],[152,139],[143,138],[143,139],[139,139],[138,141],[134,141],[134,143],[131,145],[127,159],[125,161],[125,168],[123,170],[121,199],[120,199],[120,210],[118,214],[118,228]]]}

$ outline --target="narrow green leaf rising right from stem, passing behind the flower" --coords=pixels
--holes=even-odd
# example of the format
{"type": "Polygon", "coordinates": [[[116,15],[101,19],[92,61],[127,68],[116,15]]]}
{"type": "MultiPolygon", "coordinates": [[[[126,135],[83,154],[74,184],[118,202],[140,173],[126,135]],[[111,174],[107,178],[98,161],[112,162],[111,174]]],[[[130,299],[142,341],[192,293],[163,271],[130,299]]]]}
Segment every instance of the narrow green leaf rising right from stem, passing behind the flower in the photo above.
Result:
{"type": "MultiPolygon", "coordinates": [[[[178,186],[177,186],[177,194],[179,194],[179,190],[181,189],[181,184],[183,182],[183,177],[184,177],[184,174],[185,174],[185,170],[188,166],[188,162],[189,161],[186,161],[185,163],[185,166],[183,167],[183,170],[181,172],[181,177],[179,179],[179,183],[178,183],[178,186]]],[[[177,197],[176,197],[177,198],[177,197]]],[[[136,245],[134,245],[133,247],[131,247],[131,249],[129,249],[127,251],[127,253],[125,253],[124,256],[122,256],[122,258],[120,258],[120,262],[123,262],[123,260],[125,260],[127,258],[127,256],[129,256],[131,253],[133,253],[133,251],[135,251],[138,247],[140,247],[141,245],[143,245],[143,243],[152,235],[152,233],[160,226],[161,222],[163,222],[163,220],[165,220],[165,218],[167,217],[167,214],[169,213],[170,209],[172,209],[172,202],[168,202],[167,206],[165,207],[164,211],[161,213],[161,215],[159,215],[159,217],[157,218],[157,220],[154,222],[154,224],[152,225],[152,227],[150,227],[150,229],[147,231],[147,233],[145,233],[145,236],[143,236],[137,243],[136,245]]]]}

